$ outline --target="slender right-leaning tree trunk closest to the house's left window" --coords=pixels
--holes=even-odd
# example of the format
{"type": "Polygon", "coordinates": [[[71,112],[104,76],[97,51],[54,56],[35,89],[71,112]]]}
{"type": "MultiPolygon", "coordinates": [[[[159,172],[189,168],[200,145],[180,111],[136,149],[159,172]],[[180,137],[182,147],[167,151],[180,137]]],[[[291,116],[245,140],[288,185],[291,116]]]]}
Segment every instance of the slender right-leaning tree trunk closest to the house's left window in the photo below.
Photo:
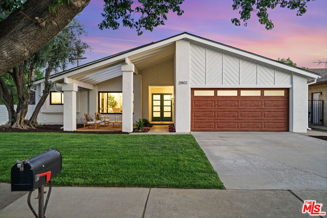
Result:
{"type": "Polygon", "coordinates": [[[26,124],[28,124],[32,128],[41,127],[41,125],[38,124],[38,122],[37,122],[37,118],[38,118],[38,114],[40,112],[41,107],[43,106],[46,98],[48,97],[48,95],[50,93],[50,90],[52,89],[52,83],[50,81],[48,81],[51,71],[52,71],[52,68],[53,68],[53,64],[48,63],[48,67],[45,70],[43,94],[40,98],[40,101],[36,105],[31,118],[26,122],[26,124]]]}

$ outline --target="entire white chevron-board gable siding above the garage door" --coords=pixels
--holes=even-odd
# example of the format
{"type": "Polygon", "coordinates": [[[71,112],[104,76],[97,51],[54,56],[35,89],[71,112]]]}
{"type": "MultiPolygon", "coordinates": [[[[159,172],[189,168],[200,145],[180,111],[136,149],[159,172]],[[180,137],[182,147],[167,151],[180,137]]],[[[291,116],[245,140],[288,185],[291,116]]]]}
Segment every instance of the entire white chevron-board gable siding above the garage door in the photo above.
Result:
{"type": "Polygon", "coordinates": [[[199,42],[190,42],[190,85],[290,86],[291,71],[199,42]]]}

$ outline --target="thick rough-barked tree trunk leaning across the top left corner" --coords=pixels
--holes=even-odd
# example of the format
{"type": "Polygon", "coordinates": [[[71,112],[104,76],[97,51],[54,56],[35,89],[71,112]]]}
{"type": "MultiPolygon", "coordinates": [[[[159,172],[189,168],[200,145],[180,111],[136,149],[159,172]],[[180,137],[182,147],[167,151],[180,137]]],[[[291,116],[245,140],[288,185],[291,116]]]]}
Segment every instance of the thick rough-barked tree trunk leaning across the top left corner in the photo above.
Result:
{"type": "Polygon", "coordinates": [[[27,0],[0,22],[0,76],[26,60],[65,27],[90,0],[27,0]],[[49,5],[56,2],[50,12],[49,5]]]}

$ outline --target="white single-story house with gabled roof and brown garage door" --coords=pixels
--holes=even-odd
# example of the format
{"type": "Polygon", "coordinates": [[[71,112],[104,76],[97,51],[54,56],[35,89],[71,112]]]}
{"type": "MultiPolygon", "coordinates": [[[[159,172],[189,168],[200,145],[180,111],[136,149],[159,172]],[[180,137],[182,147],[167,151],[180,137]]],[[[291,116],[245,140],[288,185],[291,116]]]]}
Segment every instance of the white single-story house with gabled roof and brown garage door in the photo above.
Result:
{"type": "MultiPolygon", "coordinates": [[[[307,130],[318,74],[189,33],[52,75],[38,122],[76,129],[84,113],[172,121],[177,132],[307,130]]],[[[36,84],[36,102],[44,79],[36,84]]]]}

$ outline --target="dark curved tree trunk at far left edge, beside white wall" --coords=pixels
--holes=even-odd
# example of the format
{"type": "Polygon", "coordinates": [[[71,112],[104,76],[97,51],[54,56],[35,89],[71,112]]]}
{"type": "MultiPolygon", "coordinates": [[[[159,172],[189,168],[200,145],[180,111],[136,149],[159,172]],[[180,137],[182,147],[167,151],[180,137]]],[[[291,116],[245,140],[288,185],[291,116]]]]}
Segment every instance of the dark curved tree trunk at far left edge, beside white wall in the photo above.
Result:
{"type": "Polygon", "coordinates": [[[12,95],[11,87],[7,87],[5,81],[0,76],[0,98],[2,102],[6,105],[6,108],[8,110],[8,122],[4,125],[5,127],[9,127],[13,125],[16,121],[16,111],[14,108],[14,99],[12,95]]]}

